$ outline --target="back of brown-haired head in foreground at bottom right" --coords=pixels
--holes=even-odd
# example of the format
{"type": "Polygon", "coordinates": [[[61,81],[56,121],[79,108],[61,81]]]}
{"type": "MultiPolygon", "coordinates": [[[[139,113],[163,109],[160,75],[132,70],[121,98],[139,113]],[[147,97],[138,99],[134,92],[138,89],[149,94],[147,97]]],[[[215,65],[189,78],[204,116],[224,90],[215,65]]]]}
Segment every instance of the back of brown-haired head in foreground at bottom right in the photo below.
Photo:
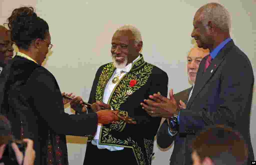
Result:
{"type": "Polygon", "coordinates": [[[223,125],[201,131],[191,147],[193,165],[240,165],[248,160],[248,148],[242,135],[223,125]]]}

